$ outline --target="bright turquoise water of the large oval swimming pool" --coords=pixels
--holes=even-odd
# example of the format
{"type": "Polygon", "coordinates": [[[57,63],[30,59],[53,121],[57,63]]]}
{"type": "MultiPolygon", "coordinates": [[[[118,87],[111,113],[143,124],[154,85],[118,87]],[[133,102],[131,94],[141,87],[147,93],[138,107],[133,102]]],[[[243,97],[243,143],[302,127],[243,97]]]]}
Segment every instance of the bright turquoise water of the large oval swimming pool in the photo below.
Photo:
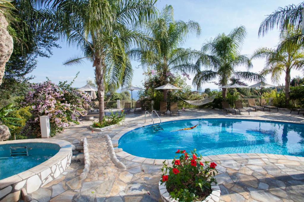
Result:
{"type": "Polygon", "coordinates": [[[177,149],[196,148],[202,156],[268,153],[304,157],[304,124],[244,119],[191,119],[136,128],[119,139],[119,147],[139,157],[172,159],[177,149]],[[176,131],[199,124],[196,128],[176,131]]]}

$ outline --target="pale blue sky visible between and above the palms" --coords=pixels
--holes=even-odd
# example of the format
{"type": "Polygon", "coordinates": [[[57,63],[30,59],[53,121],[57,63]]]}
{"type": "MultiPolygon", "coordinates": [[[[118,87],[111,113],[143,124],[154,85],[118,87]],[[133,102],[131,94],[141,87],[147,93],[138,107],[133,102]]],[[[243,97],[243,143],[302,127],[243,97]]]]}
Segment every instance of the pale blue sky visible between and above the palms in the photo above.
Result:
{"type": "MultiPolygon", "coordinates": [[[[255,1],[204,1],[204,0],[161,0],[157,2],[157,8],[161,10],[164,5],[171,4],[174,8],[174,18],[178,20],[188,21],[195,20],[199,22],[202,28],[202,34],[199,37],[196,35],[190,36],[184,48],[193,48],[199,50],[206,39],[214,38],[219,33],[228,34],[233,28],[244,25],[247,28],[247,38],[244,41],[242,54],[251,54],[259,47],[275,47],[278,43],[278,30],[273,30],[263,38],[258,38],[257,31],[260,23],[265,18],[265,15],[271,14],[278,7],[284,7],[289,4],[299,4],[302,1],[288,0],[255,0],[255,1]]],[[[58,81],[71,81],[76,73],[80,71],[78,78],[73,86],[84,86],[86,80],[94,79],[94,68],[90,62],[85,62],[81,66],[63,66],[62,62],[73,55],[81,55],[81,51],[74,47],[69,47],[65,41],[59,41],[62,48],[53,49],[51,58],[38,58],[37,68],[30,74],[36,76],[31,82],[45,81],[46,77],[50,78],[55,83],[58,81]]],[[[136,61],[132,61],[134,69],[133,85],[142,86],[143,70],[138,67],[136,61]]],[[[254,60],[253,69],[251,71],[258,72],[264,67],[264,60],[254,60]]],[[[239,67],[238,70],[245,71],[244,67],[239,67]]],[[[303,76],[299,71],[292,71],[291,76],[303,76]]],[[[281,77],[281,84],[284,82],[285,75],[281,77]]],[[[191,75],[193,78],[193,75],[191,75]]],[[[270,76],[267,77],[267,82],[271,83],[270,76]]],[[[248,82],[247,82],[248,83],[248,82]]],[[[188,81],[192,84],[192,80],[188,81]]],[[[250,83],[249,83],[250,84],[250,83]]],[[[252,83],[253,84],[253,83],[252,83]]],[[[204,88],[217,89],[218,86],[212,83],[207,83],[204,88]]],[[[193,89],[195,89],[193,87],[193,89]]]]}

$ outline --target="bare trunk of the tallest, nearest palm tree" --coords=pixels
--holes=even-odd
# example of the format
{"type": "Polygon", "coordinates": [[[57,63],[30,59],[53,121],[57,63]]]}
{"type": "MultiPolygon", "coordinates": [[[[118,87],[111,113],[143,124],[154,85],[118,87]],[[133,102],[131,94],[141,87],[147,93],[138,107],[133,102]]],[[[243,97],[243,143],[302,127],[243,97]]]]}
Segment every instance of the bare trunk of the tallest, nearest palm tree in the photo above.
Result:
{"type": "Polygon", "coordinates": [[[104,68],[101,64],[101,59],[95,59],[95,75],[98,89],[98,108],[99,108],[99,123],[102,123],[103,117],[105,116],[105,81],[104,81],[104,68]]]}

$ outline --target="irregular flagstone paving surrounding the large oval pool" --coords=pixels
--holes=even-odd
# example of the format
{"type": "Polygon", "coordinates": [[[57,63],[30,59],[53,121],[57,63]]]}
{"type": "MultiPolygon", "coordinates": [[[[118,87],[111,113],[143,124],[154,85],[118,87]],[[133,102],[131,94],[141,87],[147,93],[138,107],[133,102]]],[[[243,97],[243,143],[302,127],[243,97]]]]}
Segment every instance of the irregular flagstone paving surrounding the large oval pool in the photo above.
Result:
{"type": "MultiPolygon", "coordinates": [[[[226,115],[211,109],[183,111],[181,116],[162,116],[162,121],[189,118],[244,118],[304,123],[304,117],[289,111],[254,112],[250,116],[226,115]]],[[[91,159],[91,171],[81,181],[83,163],[72,163],[56,180],[31,196],[38,201],[161,201],[158,181],[161,165],[158,161],[136,160],[135,156],[119,156],[127,169],[120,170],[111,162],[104,134],[119,139],[130,128],[145,125],[144,114],[127,114],[123,125],[102,132],[89,130],[92,121],[71,125],[55,139],[70,141],[86,137],[91,159]],[[135,159],[135,160],[134,160],[135,159]],[[135,162],[137,161],[137,162],[135,162]]],[[[146,124],[151,124],[147,119],[146,124]]],[[[303,159],[273,154],[231,154],[209,156],[218,166],[216,176],[221,189],[220,201],[304,201],[303,159]],[[288,159],[293,158],[293,159],[288,159]]],[[[208,157],[208,158],[209,158],[208,157]]],[[[208,160],[206,157],[205,159],[208,160]]]]}

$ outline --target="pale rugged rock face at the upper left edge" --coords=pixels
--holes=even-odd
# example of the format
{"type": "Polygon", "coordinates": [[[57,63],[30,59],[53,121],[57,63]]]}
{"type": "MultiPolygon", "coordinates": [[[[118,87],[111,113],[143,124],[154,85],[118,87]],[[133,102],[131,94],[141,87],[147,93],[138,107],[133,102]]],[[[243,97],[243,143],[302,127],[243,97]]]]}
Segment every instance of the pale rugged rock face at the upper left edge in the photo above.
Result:
{"type": "Polygon", "coordinates": [[[4,76],[5,64],[12,55],[14,45],[13,38],[6,29],[8,25],[0,8],[0,85],[4,76]]]}

